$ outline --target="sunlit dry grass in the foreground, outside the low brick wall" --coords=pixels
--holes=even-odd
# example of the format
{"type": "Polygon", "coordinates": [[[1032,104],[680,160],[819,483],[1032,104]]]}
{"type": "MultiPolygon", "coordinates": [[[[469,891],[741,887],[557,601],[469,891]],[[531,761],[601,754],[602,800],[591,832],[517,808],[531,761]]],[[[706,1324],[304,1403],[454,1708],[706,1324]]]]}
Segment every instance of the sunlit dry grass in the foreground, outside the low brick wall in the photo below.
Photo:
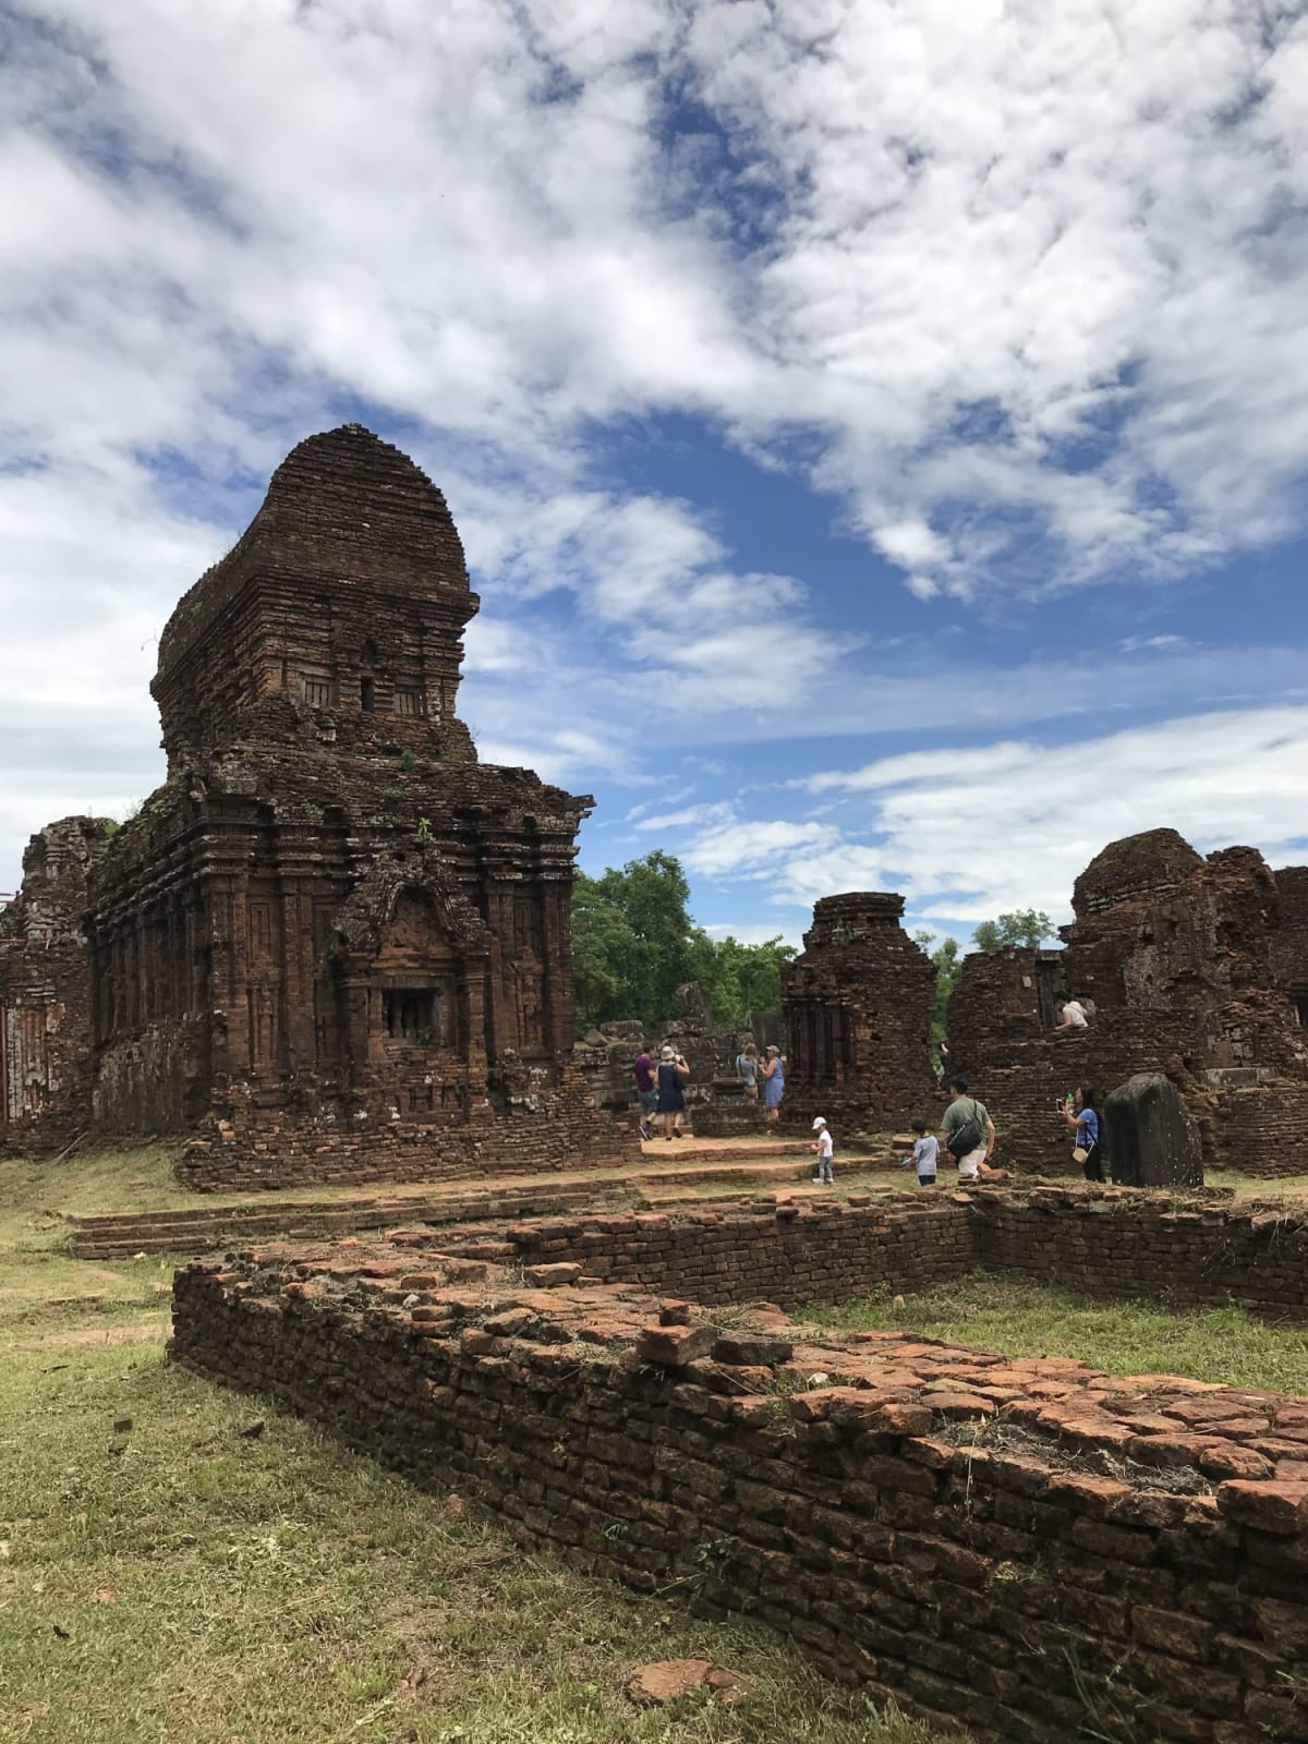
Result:
{"type": "Polygon", "coordinates": [[[966,1744],[171,1366],[171,1264],[19,1247],[44,1203],[0,1230],[5,1744],[966,1744]],[[753,1695],[626,1700],[680,1655],[753,1695]]]}

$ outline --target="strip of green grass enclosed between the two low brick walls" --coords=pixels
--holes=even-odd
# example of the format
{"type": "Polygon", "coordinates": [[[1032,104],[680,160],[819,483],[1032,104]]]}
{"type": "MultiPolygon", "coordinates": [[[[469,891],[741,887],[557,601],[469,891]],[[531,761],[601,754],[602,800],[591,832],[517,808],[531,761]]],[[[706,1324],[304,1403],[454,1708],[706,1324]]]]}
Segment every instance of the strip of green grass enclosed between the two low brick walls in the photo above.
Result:
{"type": "Polygon", "coordinates": [[[1031,1278],[973,1271],[917,1296],[874,1296],[797,1313],[839,1332],[926,1332],[1008,1357],[1080,1357],[1111,1374],[1188,1374],[1226,1386],[1308,1393],[1308,1327],[1243,1308],[1102,1303],[1031,1278]]]}

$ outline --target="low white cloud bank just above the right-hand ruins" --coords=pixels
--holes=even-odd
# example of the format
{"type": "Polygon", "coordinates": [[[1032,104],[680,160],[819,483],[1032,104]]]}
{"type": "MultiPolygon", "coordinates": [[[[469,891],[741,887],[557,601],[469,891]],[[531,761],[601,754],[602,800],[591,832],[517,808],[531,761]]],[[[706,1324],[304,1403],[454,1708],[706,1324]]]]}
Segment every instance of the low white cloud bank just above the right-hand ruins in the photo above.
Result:
{"type": "Polygon", "coordinates": [[[1093,855],[1162,823],[1203,851],[1249,842],[1273,863],[1305,858],[1305,771],[1308,708],[1214,713],[823,771],[800,785],[846,804],[823,807],[821,821],[689,818],[678,851],[719,881],[767,877],[783,907],[870,888],[903,891],[926,919],[975,923],[1013,907],[1066,919],[1093,855]]]}

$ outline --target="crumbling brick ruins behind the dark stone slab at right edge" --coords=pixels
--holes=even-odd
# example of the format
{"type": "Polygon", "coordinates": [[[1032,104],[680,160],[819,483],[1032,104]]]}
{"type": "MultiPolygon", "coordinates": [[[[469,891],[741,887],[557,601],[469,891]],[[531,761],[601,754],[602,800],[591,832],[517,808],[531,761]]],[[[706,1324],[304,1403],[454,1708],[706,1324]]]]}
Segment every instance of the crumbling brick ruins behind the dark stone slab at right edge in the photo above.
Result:
{"type": "Polygon", "coordinates": [[[1182,1092],[1210,1163],[1298,1174],[1308,1144],[1308,870],[1252,848],[1203,860],[1175,830],[1111,842],[1073,891],[1064,950],[964,957],[950,1059],[987,1099],[1001,1158],[1067,1167],[1053,1113],[1134,1073],[1182,1092]],[[1055,1034],[1067,996],[1088,1029],[1055,1034]]]}

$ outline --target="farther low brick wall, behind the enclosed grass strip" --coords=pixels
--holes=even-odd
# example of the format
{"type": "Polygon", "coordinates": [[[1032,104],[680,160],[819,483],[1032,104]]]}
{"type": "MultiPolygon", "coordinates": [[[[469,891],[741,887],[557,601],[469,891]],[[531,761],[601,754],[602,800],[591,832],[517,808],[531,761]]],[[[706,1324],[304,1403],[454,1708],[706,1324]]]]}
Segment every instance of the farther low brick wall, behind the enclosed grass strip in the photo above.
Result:
{"type": "Polygon", "coordinates": [[[441,1231],[433,1242],[481,1259],[577,1261],[596,1278],[705,1305],[907,1296],[992,1266],[1088,1296],[1238,1301],[1256,1313],[1308,1315],[1308,1209],[1132,1188],[769,1198],[745,1209],[572,1214],[462,1236],[441,1231]]]}

